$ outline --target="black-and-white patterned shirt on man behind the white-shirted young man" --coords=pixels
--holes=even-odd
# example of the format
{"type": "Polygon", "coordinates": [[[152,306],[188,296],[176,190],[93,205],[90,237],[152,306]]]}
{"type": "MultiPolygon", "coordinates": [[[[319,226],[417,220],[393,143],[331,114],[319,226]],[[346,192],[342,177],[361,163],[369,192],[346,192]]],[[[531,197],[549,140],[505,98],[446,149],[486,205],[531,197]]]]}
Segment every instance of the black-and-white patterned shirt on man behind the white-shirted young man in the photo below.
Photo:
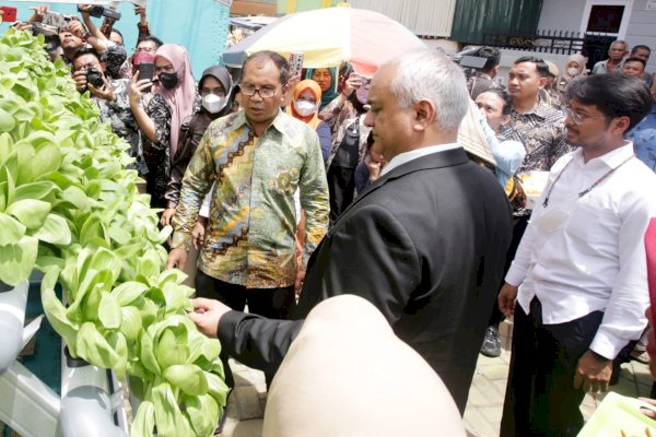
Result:
{"type": "Polygon", "coordinates": [[[526,157],[517,174],[549,172],[559,157],[570,152],[565,115],[543,102],[526,114],[513,108],[511,121],[501,127],[500,133],[504,138],[519,140],[526,147],[526,157]]]}

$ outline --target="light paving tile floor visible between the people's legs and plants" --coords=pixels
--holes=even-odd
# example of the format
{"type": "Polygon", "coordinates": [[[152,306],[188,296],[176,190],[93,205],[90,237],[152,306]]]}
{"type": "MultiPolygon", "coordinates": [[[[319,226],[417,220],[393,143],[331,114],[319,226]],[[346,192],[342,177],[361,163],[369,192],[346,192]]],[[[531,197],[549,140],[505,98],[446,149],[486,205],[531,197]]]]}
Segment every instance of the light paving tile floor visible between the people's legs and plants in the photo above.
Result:
{"type": "MultiPolygon", "coordinates": [[[[506,388],[508,364],[511,362],[512,324],[504,323],[501,329],[502,354],[497,358],[479,355],[473,381],[469,391],[469,401],[465,410],[465,427],[471,437],[496,437],[501,424],[503,399],[506,388]]],[[[267,390],[265,376],[231,359],[235,374],[235,390],[227,401],[227,420],[221,436],[260,437],[266,406],[267,390]]],[[[622,365],[620,382],[610,391],[629,397],[648,397],[652,390],[652,377],[646,365],[637,362],[622,365]]],[[[606,394],[587,394],[581,410],[587,420],[606,394]]]]}

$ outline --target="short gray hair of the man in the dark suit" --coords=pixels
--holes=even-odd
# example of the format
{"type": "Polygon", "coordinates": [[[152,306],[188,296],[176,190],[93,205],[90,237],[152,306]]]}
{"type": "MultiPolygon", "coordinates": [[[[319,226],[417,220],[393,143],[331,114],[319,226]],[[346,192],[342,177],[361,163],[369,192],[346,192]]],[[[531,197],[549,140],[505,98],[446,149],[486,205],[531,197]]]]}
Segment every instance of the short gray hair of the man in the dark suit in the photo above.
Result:
{"type": "Polygon", "coordinates": [[[429,99],[435,105],[437,128],[458,129],[469,108],[467,81],[458,66],[435,49],[409,51],[388,63],[397,68],[391,92],[400,107],[429,99]]]}

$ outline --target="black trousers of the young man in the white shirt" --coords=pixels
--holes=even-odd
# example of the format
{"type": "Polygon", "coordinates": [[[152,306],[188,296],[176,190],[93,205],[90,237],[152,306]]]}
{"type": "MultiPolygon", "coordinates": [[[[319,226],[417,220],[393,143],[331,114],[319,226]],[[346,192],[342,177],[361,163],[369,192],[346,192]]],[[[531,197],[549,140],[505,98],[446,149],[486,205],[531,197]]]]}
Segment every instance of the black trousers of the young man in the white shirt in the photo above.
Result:
{"type": "Polygon", "coordinates": [[[565,323],[543,324],[537,298],[529,315],[517,305],[502,437],[578,434],[585,393],[574,389],[574,373],[602,318],[602,311],[594,311],[565,323]]]}

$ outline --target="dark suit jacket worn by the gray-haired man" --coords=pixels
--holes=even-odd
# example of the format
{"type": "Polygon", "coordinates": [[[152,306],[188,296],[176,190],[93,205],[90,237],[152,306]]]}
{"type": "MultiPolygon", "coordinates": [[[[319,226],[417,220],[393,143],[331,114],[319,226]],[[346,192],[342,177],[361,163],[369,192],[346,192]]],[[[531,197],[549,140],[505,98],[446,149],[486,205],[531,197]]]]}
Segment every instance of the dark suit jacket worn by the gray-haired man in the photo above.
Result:
{"type": "MultiPolygon", "coordinates": [[[[462,149],[411,161],[374,182],[328,231],[309,260],[295,318],[330,296],[366,298],[464,412],[511,229],[505,193],[462,149]]],[[[270,370],[301,323],[231,311],[220,340],[237,359],[270,370]]]]}

